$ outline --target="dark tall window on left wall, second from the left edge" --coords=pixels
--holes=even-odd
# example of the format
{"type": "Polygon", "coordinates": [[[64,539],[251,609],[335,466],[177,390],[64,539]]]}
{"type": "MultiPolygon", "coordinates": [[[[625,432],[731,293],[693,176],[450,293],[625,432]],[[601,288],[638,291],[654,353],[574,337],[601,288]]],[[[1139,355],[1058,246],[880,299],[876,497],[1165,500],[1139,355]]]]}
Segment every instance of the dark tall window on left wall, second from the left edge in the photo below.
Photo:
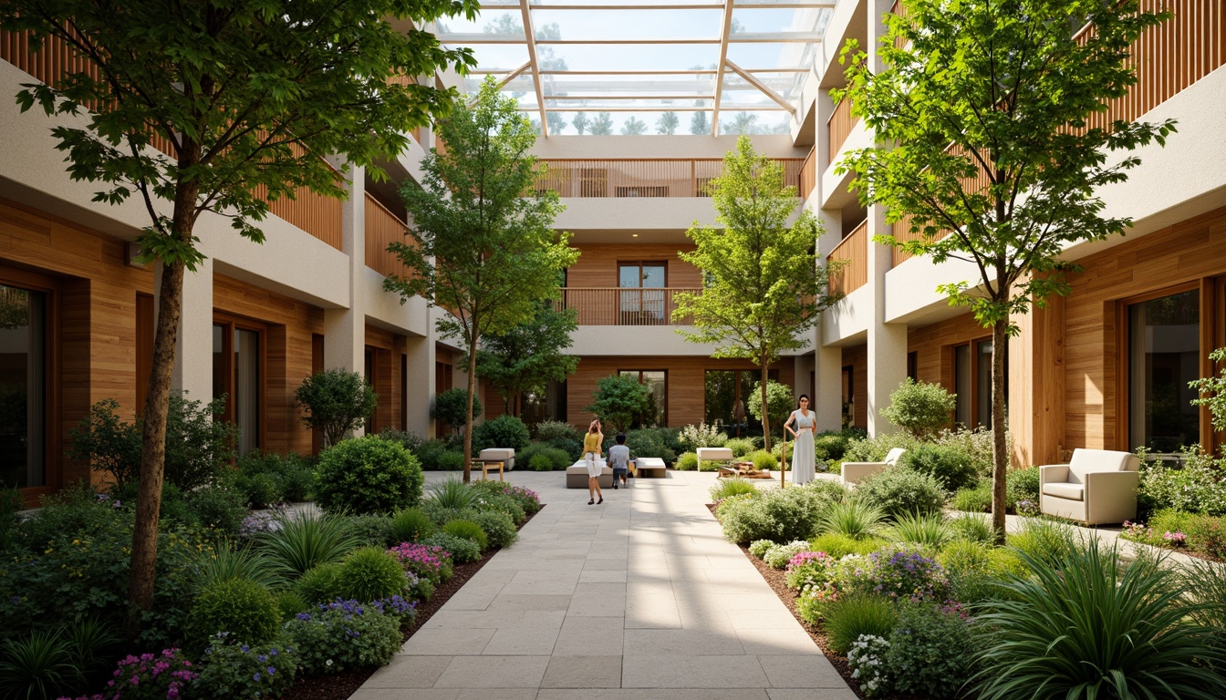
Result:
{"type": "Polygon", "coordinates": [[[238,454],[260,447],[262,408],[262,329],[235,321],[213,322],[213,398],[226,396],[223,420],[238,425],[238,454]]]}

